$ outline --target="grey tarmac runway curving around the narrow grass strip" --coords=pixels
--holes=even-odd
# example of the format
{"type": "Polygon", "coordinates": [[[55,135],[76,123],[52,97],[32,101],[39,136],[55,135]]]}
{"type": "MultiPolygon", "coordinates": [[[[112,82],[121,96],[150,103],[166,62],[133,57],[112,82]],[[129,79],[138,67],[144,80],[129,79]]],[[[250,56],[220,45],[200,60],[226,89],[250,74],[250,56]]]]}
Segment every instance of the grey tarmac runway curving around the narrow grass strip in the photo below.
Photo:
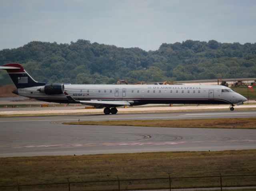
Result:
{"type": "MultiPolygon", "coordinates": [[[[256,130],[73,126],[82,120],[256,117],[256,111],[0,118],[0,157],[256,149],[256,130]]],[[[248,119],[249,120],[249,119],[248,119]]]]}

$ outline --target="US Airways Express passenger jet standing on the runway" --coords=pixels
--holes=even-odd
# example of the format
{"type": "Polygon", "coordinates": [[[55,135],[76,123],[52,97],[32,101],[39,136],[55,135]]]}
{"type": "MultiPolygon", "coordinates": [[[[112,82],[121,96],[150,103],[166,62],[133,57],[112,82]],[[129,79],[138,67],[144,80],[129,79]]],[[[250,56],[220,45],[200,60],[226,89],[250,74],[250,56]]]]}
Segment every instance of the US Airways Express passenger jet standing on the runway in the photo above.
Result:
{"type": "Polygon", "coordinates": [[[116,114],[118,106],[144,104],[234,104],[247,99],[221,85],[72,85],[35,81],[17,63],[0,66],[10,75],[16,88],[12,93],[36,100],[84,104],[104,108],[104,114],[116,114]]]}

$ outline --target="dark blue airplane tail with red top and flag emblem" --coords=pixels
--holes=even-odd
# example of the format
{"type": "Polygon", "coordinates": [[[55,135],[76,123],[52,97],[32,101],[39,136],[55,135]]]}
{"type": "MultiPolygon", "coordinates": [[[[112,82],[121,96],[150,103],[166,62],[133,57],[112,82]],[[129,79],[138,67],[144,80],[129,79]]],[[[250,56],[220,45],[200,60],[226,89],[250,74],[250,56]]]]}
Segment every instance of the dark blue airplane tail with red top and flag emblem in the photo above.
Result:
{"type": "Polygon", "coordinates": [[[46,83],[35,81],[20,64],[6,64],[0,66],[0,69],[8,72],[17,89],[46,85],[46,83]]]}

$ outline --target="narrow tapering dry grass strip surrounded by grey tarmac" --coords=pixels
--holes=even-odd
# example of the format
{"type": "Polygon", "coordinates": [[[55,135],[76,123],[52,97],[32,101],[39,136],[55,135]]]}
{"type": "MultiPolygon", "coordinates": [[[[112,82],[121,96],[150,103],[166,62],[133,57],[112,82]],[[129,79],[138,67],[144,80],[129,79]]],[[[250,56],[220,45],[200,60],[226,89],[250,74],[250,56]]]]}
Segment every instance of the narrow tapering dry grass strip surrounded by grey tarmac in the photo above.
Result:
{"type": "Polygon", "coordinates": [[[117,126],[150,126],[182,128],[256,128],[256,118],[232,119],[192,119],[192,120],[116,120],[116,121],[82,121],[63,124],[75,125],[117,125],[117,126]]]}

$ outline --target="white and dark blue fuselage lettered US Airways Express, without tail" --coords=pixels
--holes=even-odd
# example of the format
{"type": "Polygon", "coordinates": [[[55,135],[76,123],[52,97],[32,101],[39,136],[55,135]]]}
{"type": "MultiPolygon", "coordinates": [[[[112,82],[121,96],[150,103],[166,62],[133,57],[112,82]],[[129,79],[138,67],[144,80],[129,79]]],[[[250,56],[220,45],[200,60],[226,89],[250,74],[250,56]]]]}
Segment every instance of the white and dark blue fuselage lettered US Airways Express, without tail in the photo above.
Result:
{"type": "MultiPolygon", "coordinates": [[[[128,100],[132,105],[149,103],[236,104],[247,99],[220,85],[64,85],[75,100],[128,100]]],[[[18,95],[48,102],[70,103],[64,94],[46,95],[40,87],[18,89],[18,95]]]]}

